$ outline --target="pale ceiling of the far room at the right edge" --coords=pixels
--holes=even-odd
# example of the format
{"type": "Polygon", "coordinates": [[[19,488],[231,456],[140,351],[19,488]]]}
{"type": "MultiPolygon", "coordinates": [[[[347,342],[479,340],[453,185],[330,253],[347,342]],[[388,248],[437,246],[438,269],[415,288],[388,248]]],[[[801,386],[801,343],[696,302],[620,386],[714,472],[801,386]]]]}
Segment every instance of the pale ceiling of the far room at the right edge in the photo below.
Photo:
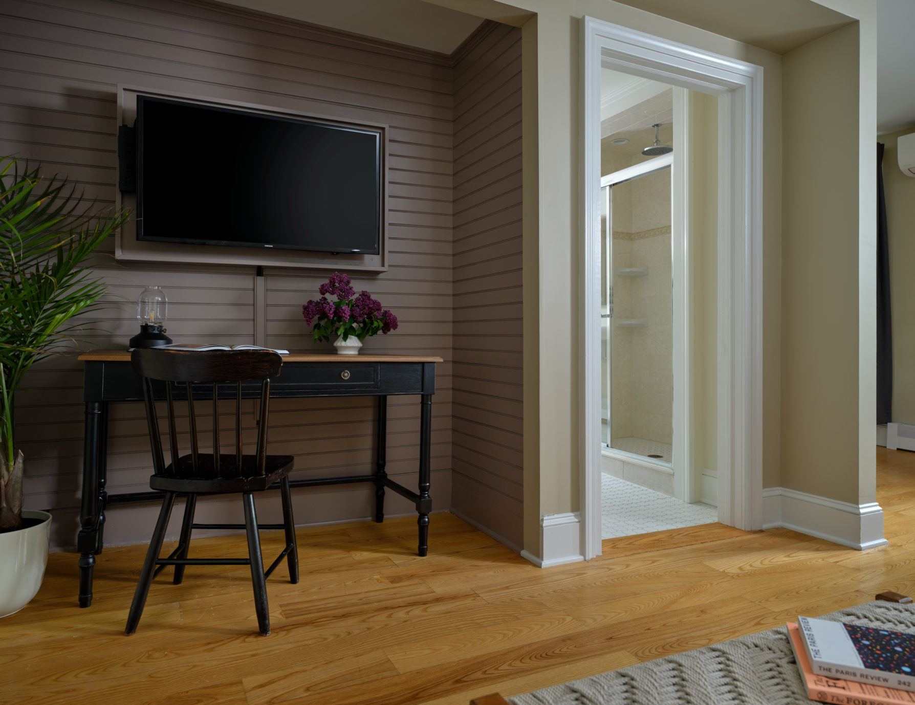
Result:
{"type": "Polygon", "coordinates": [[[877,132],[915,123],[915,0],[877,2],[877,132]]]}

